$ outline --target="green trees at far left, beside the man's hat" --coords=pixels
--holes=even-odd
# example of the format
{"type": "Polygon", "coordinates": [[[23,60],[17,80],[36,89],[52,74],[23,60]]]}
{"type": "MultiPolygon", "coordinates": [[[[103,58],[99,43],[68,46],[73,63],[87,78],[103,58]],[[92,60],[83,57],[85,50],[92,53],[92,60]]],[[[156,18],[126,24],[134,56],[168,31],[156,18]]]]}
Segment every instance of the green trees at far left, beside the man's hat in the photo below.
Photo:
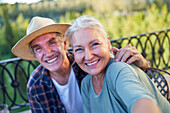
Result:
{"type": "Polygon", "coordinates": [[[25,35],[29,20],[24,19],[23,15],[19,14],[16,21],[11,22],[6,4],[1,7],[1,16],[4,25],[0,27],[0,59],[3,60],[14,57],[11,53],[11,48],[25,35]]]}

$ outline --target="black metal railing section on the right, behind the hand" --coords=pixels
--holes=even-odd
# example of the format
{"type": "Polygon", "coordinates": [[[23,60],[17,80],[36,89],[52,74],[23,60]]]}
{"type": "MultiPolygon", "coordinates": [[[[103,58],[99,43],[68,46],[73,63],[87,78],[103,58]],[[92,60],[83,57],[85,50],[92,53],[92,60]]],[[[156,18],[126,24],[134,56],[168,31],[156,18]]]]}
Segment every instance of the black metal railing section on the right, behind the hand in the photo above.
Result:
{"type": "Polygon", "coordinates": [[[111,40],[111,43],[118,48],[127,44],[135,46],[152,67],[170,72],[170,29],[111,40]]]}

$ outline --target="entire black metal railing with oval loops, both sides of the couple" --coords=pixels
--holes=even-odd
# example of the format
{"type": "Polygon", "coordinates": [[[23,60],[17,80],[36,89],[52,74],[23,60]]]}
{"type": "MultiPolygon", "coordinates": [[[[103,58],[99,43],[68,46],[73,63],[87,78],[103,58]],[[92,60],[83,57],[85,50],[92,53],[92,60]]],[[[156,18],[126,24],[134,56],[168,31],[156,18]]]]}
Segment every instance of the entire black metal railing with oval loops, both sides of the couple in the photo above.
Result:
{"type": "MultiPolygon", "coordinates": [[[[150,61],[152,67],[169,72],[170,29],[111,40],[111,43],[118,48],[131,44],[150,61]]],[[[9,110],[28,106],[26,85],[37,65],[20,58],[0,61],[0,104],[8,104],[9,110]]]]}

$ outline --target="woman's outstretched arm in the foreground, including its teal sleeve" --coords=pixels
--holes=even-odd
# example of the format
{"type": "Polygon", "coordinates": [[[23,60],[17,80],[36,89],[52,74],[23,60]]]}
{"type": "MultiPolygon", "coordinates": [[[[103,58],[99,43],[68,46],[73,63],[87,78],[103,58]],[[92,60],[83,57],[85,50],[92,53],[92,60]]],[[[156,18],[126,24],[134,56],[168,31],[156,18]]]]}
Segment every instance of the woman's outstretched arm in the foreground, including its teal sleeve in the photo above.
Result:
{"type": "MultiPolygon", "coordinates": [[[[156,87],[139,68],[116,62],[109,66],[107,72],[108,83],[112,85],[110,87],[115,91],[119,101],[127,107],[128,112],[161,113],[159,109],[164,109],[163,106],[157,106],[157,99],[160,100],[162,97],[157,95],[159,92],[156,87]],[[154,110],[157,112],[153,112],[154,110]]],[[[164,100],[159,102],[164,104],[164,100]]]]}

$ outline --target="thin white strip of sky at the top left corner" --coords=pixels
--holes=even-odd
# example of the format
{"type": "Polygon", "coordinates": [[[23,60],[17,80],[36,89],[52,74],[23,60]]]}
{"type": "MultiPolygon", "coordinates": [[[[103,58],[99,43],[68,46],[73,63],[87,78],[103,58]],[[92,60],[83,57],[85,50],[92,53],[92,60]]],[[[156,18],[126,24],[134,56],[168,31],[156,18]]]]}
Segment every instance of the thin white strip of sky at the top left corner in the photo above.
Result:
{"type": "Polygon", "coordinates": [[[9,3],[9,4],[15,4],[18,3],[36,3],[40,0],[0,0],[1,3],[9,3]]]}

